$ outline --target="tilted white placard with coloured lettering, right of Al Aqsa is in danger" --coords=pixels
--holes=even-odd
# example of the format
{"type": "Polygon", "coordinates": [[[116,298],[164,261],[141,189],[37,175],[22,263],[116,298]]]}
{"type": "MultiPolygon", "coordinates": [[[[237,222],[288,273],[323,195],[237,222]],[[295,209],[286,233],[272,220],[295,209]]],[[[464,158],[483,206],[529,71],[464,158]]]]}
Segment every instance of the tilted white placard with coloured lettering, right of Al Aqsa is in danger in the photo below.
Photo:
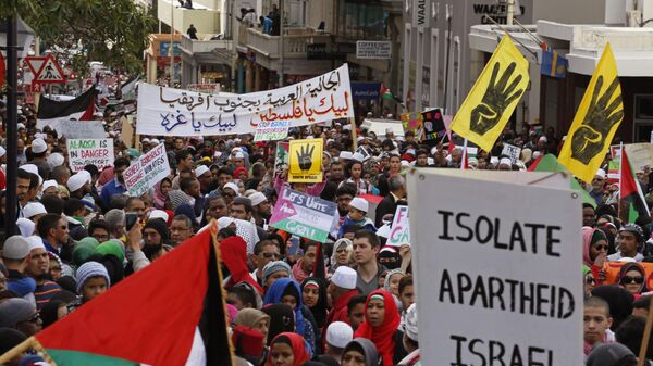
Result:
{"type": "Polygon", "coordinates": [[[130,194],[135,197],[147,193],[169,175],[170,164],[163,143],[158,144],[137,161],[132,162],[132,165],[123,173],[125,187],[130,194]]]}

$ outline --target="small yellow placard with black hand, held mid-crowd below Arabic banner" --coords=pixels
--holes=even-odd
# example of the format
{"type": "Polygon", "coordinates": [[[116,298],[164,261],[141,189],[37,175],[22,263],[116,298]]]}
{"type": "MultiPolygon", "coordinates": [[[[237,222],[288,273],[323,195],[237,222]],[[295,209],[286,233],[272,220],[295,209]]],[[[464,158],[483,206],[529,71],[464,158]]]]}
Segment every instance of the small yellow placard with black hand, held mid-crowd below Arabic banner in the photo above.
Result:
{"type": "Polygon", "coordinates": [[[288,147],[289,182],[322,181],[322,148],[324,140],[291,140],[288,147]]]}

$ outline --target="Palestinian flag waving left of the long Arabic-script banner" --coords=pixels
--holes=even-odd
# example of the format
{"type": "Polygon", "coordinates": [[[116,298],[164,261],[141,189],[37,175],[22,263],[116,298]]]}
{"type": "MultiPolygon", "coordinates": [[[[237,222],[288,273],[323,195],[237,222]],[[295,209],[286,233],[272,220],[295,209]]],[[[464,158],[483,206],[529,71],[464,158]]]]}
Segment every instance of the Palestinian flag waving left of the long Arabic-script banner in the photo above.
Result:
{"type": "Polygon", "coordinates": [[[79,97],[67,100],[57,101],[41,96],[38,103],[37,128],[50,126],[54,129],[71,121],[90,121],[96,111],[97,90],[90,87],[79,97]]]}

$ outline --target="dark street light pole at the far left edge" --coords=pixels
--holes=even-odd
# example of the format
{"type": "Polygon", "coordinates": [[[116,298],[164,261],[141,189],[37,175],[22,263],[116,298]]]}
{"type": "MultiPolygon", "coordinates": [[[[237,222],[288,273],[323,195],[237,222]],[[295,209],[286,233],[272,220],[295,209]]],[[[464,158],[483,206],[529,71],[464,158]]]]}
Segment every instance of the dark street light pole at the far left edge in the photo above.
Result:
{"type": "Polygon", "coordinates": [[[9,86],[7,92],[7,195],[4,211],[4,235],[11,237],[15,234],[16,228],[16,209],[19,207],[19,199],[16,197],[16,174],[19,171],[17,150],[19,150],[19,132],[17,132],[17,92],[19,87],[19,45],[17,45],[17,14],[14,12],[7,20],[7,84],[9,86]]]}

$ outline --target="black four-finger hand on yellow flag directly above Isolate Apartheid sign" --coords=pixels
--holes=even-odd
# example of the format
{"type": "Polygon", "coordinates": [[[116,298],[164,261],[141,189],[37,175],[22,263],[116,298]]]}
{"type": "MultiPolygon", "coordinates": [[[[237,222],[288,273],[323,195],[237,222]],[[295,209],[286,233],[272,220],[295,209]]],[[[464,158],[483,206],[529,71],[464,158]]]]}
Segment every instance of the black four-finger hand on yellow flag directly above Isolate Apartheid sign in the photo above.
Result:
{"type": "Polygon", "coordinates": [[[515,67],[517,67],[517,63],[512,62],[497,83],[496,77],[498,76],[500,67],[501,62],[494,64],[492,77],[490,78],[485,94],[483,96],[481,103],[471,110],[469,129],[479,135],[485,135],[485,132],[494,128],[501,121],[501,116],[506,108],[516,99],[521,98],[521,94],[523,93],[523,89],[515,91],[521,81],[521,75],[517,75],[513,83],[506,87],[515,72],[515,67]]]}

